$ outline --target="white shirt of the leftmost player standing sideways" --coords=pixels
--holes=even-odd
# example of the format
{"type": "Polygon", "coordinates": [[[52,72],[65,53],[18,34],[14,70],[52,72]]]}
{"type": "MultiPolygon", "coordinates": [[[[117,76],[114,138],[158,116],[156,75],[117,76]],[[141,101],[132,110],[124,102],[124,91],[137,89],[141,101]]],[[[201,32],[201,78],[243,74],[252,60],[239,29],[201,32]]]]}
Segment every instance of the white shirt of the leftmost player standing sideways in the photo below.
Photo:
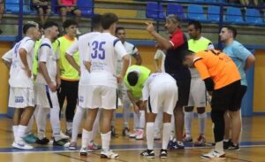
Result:
{"type": "Polygon", "coordinates": [[[28,78],[25,66],[23,65],[19,50],[24,49],[27,51],[27,65],[32,71],[34,61],[34,40],[25,37],[20,42],[16,43],[15,46],[6,53],[4,58],[11,60],[10,79],[9,84],[14,88],[33,88],[33,75],[28,78]],[[10,57],[12,58],[10,59],[10,57]]]}

